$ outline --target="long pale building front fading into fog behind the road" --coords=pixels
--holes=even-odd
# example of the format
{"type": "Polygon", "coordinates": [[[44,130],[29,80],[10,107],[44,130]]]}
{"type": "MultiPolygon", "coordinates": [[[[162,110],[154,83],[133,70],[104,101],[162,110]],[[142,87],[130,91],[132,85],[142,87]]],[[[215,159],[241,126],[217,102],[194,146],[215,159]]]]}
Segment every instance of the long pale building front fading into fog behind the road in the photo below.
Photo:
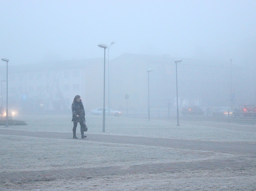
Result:
{"type": "MultiPolygon", "coordinates": [[[[175,57],[123,54],[110,61],[110,107],[125,110],[175,106],[175,57]],[[129,99],[125,99],[125,95],[129,99]]],[[[230,64],[181,58],[177,63],[179,105],[230,106],[230,64]]],[[[103,58],[71,60],[45,64],[10,65],[8,68],[9,109],[16,111],[70,110],[75,95],[80,95],[85,110],[103,107],[103,58]]],[[[108,65],[106,62],[105,106],[108,107],[108,65]]],[[[0,70],[6,80],[6,67],[0,70]]],[[[253,68],[233,66],[234,106],[255,104],[253,68]]],[[[6,82],[3,83],[3,106],[6,82]]]]}

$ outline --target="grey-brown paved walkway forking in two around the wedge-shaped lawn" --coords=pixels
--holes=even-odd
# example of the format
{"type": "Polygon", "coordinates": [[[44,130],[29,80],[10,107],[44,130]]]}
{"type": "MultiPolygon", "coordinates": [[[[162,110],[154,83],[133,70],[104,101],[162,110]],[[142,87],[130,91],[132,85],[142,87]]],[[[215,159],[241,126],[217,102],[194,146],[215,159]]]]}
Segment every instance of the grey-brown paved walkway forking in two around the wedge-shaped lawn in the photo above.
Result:
{"type": "MultiPolygon", "coordinates": [[[[58,132],[31,132],[20,130],[0,129],[1,135],[18,135],[28,137],[71,139],[71,133],[58,132]]],[[[167,164],[147,164],[134,166],[111,166],[97,168],[69,168],[43,171],[22,171],[0,173],[0,182],[22,181],[22,180],[44,180],[68,177],[89,177],[99,175],[114,175],[128,173],[155,173],[155,172],[175,172],[182,170],[218,169],[226,167],[254,167],[256,166],[256,143],[237,142],[212,142],[193,141],[180,139],[145,138],[114,135],[88,134],[83,141],[95,141],[105,143],[122,143],[148,146],[161,146],[181,149],[196,149],[217,152],[227,152],[234,154],[232,157],[214,160],[204,160],[195,162],[167,163],[167,164]]]]}

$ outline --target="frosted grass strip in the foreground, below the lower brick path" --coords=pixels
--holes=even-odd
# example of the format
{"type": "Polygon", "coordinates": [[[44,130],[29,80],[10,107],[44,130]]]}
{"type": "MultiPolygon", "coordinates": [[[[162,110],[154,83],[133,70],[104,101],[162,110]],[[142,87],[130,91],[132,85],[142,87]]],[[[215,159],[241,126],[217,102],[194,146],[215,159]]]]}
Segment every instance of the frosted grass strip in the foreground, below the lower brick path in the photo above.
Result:
{"type": "Polygon", "coordinates": [[[252,191],[256,168],[226,168],[153,174],[93,176],[52,181],[0,183],[2,191],[252,191]]]}

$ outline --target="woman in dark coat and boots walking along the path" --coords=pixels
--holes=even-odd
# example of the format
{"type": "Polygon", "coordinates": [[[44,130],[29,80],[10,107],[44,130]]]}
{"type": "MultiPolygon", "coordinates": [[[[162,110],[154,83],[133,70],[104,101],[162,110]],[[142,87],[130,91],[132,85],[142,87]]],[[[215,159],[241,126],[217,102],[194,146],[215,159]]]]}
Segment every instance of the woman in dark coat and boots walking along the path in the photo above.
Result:
{"type": "Polygon", "coordinates": [[[80,124],[81,137],[82,137],[82,139],[84,139],[84,138],[87,137],[87,136],[84,135],[85,111],[84,111],[84,106],[83,106],[82,100],[80,99],[80,95],[75,96],[71,108],[72,108],[72,121],[74,123],[73,139],[78,139],[76,137],[76,127],[77,127],[78,122],[80,124]]]}

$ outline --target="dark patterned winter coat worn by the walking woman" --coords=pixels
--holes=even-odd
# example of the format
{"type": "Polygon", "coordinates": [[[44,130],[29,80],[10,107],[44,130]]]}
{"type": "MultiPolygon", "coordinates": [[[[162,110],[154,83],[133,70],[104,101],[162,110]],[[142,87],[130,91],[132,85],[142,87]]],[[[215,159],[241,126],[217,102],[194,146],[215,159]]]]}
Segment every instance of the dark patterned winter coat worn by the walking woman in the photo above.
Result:
{"type": "Polygon", "coordinates": [[[85,111],[84,111],[83,102],[81,100],[79,102],[74,100],[71,105],[71,109],[72,109],[72,121],[73,122],[78,123],[78,122],[85,121],[85,117],[84,117],[85,111]],[[77,115],[79,115],[79,117],[76,117],[77,115]]]}

